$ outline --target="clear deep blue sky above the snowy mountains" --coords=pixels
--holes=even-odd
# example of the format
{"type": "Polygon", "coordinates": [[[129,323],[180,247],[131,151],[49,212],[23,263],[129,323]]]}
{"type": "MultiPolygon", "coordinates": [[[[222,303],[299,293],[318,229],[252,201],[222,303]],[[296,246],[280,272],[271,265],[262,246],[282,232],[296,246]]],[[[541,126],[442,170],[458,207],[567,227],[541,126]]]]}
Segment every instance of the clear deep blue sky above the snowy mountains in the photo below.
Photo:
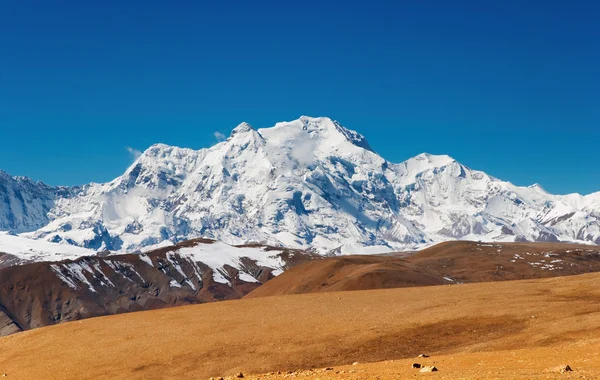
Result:
{"type": "Polygon", "coordinates": [[[0,0],[0,169],[108,181],[126,147],[311,115],[393,162],[600,190],[598,2],[341,4],[0,0]]]}

